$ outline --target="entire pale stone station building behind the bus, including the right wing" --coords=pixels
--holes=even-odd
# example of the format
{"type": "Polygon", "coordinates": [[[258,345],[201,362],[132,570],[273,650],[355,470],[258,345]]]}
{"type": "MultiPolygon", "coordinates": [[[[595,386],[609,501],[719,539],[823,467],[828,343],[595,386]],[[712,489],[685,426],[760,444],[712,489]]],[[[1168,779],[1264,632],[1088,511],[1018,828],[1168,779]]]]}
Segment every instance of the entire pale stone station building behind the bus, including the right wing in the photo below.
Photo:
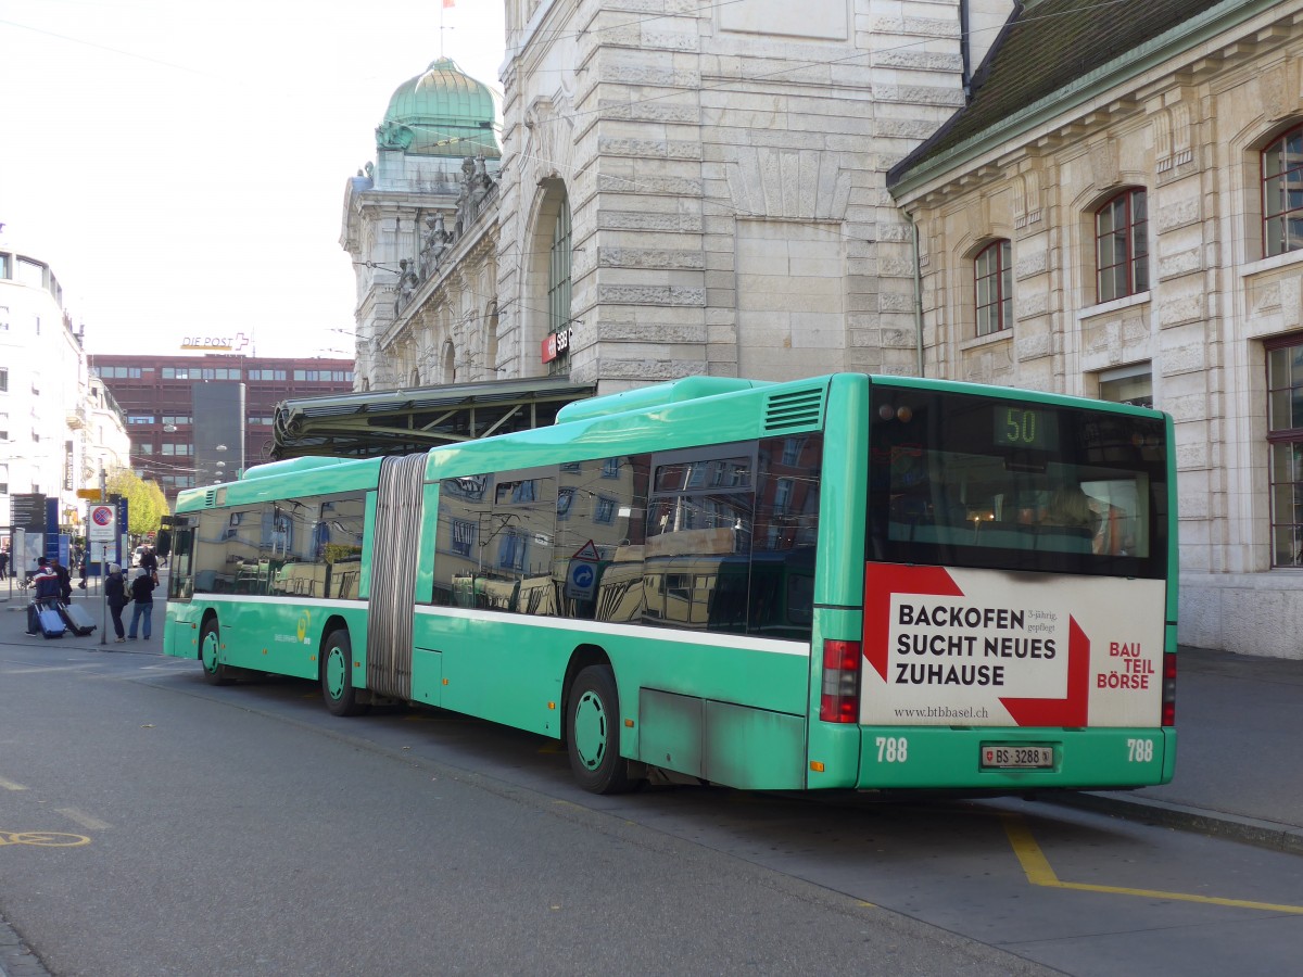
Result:
{"type": "Polygon", "coordinates": [[[507,0],[500,165],[382,137],[349,188],[358,387],[865,370],[1152,403],[1181,640],[1303,655],[1300,7],[507,0]],[[476,193],[425,274],[422,221],[476,193]]]}

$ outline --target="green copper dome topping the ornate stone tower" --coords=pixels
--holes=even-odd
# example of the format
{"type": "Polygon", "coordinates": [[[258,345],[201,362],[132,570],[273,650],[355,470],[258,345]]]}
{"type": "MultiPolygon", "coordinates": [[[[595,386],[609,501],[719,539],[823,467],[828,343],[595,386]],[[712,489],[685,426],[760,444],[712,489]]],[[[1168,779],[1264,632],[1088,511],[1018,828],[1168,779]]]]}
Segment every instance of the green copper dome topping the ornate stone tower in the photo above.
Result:
{"type": "Polygon", "coordinates": [[[430,64],[425,74],[403,82],[375,130],[379,149],[422,156],[498,159],[496,108],[487,85],[463,74],[450,57],[430,64]]]}

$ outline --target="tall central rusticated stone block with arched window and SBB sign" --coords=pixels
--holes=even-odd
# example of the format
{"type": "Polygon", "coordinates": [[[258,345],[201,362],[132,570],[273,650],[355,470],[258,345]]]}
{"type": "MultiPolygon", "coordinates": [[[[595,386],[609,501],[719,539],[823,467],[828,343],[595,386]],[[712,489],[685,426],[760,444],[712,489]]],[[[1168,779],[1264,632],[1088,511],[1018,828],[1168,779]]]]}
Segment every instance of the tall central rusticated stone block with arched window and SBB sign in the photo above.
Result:
{"type": "Polygon", "coordinates": [[[962,104],[960,7],[988,42],[1009,10],[508,0],[511,373],[567,370],[602,393],[694,374],[912,373],[909,228],[885,169],[962,104]],[[568,319],[547,301],[558,227],[568,319]],[[550,358],[556,335],[567,353],[550,358]]]}

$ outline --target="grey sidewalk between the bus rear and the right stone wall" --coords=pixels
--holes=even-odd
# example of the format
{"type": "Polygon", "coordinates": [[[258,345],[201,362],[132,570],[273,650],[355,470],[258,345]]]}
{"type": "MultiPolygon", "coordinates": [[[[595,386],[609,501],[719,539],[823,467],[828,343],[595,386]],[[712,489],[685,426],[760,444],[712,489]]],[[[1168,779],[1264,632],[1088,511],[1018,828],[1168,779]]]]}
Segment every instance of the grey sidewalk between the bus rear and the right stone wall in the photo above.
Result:
{"type": "Polygon", "coordinates": [[[1042,800],[1303,855],[1303,660],[1182,647],[1170,784],[1042,800]]]}

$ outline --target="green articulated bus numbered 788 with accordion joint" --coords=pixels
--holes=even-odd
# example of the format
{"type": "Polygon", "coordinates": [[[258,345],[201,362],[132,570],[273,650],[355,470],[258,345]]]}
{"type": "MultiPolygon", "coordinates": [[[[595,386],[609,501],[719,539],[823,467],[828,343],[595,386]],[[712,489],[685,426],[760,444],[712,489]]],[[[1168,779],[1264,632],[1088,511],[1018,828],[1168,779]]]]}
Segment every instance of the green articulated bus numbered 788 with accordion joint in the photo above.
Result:
{"type": "Polygon", "coordinates": [[[181,494],[168,654],[566,743],[594,792],[1020,792],[1175,763],[1171,421],[692,378],[181,494]]]}

